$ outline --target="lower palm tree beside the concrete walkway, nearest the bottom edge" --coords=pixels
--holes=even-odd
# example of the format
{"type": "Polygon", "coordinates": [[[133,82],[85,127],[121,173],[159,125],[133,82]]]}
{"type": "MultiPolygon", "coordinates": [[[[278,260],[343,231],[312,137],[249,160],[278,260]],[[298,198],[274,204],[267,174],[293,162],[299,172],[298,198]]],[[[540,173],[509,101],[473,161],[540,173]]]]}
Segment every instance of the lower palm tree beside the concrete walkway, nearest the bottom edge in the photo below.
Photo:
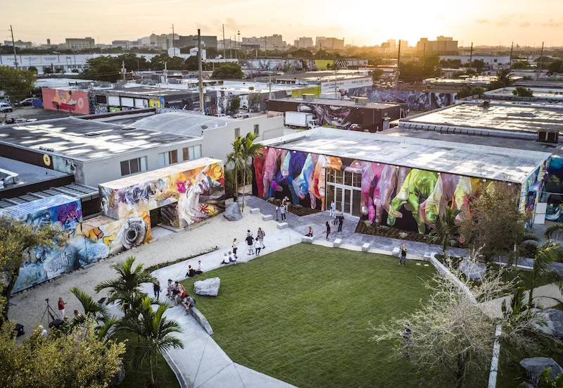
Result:
{"type": "Polygon", "coordinates": [[[133,346],[134,362],[137,367],[148,359],[148,367],[151,370],[151,386],[155,384],[154,367],[158,354],[169,349],[184,348],[182,341],[174,337],[172,333],[182,332],[175,320],[163,318],[168,306],[159,305],[153,311],[151,299],[144,298],[141,303],[141,316],[124,318],[120,329],[137,334],[139,344],[133,346]]]}

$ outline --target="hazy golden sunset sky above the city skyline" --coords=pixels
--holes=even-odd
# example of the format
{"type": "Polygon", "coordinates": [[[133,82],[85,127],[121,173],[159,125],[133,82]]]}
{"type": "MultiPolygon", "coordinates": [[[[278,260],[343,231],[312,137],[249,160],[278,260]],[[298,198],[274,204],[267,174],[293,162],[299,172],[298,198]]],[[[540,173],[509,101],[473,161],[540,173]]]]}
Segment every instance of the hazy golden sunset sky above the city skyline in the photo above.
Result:
{"type": "Polygon", "coordinates": [[[2,7],[0,39],[51,43],[65,37],[94,37],[96,43],[175,32],[222,37],[281,34],[344,37],[355,45],[389,38],[454,37],[460,45],[563,46],[563,0],[302,1],[258,0],[18,0],[2,7]]]}

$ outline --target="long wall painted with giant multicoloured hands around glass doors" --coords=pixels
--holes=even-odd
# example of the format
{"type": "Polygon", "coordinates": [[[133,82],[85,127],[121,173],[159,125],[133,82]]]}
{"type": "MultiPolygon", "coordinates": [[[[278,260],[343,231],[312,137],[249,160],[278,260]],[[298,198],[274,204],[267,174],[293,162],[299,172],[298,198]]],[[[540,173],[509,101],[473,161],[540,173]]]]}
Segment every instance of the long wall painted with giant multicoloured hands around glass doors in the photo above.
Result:
{"type": "MultiPolygon", "coordinates": [[[[326,210],[341,201],[346,213],[367,223],[427,233],[446,206],[469,215],[471,196],[479,195],[490,181],[434,171],[337,158],[301,151],[267,148],[254,158],[254,194],[326,210]],[[334,194],[336,188],[348,189],[334,194]],[[346,210],[348,206],[348,210],[346,210]]],[[[337,209],[339,205],[337,204],[337,209]]]]}

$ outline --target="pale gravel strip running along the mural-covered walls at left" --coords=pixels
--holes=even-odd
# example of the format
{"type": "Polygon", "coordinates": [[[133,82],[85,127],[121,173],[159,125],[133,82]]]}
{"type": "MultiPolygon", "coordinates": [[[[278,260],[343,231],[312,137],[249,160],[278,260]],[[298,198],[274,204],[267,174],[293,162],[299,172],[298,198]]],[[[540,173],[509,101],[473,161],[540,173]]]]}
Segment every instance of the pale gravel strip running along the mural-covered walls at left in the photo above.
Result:
{"type": "MultiPolygon", "coordinates": [[[[127,256],[133,255],[137,258],[138,263],[145,263],[148,266],[194,256],[200,252],[213,249],[215,246],[227,249],[235,238],[242,243],[241,246],[244,246],[246,230],[248,229],[255,236],[258,227],[262,227],[262,230],[266,233],[266,239],[268,234],[277,231],[275,221],[262,221],[261,213],[251,214],[249,210],[246,206],[242,220],[230,222],[220,214],[194,225],[188,230],[168,234],[150,244],[144,244],[106,258],[94,264],[91,268],[67,273],[51,282],[44,282],[37,287],[19,292],[10,299],[14,306],[10,306],[8,316],[16,323],[24,325],[26,334],[29,334],[39,324],[45,310],[46,298],[50,299],[51,306],[58,312],[56,302],[61,296],[67,302],[65,313],[69,318],[72,318],[72,311],[75,309],[82,311],[82,306],[70,293],[70,288],[80,287],[94,296],[96,300],[106,296],[103,292],[95,294],[94,287],[102,280],[115,277],[115,270],[110,268],[110,265],[125,260],[127,256]]],[[[45,325],[45,323],[46,320],[44,319],[42,324],[45,325]]]]}

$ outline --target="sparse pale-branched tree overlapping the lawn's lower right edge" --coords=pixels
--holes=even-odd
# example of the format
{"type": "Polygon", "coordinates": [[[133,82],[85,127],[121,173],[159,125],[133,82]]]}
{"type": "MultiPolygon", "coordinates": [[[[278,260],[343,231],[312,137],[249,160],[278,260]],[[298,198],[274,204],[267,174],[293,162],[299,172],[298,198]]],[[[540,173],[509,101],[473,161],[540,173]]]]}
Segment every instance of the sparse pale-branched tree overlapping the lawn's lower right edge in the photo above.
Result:
{"type": "MultiPolygon", "coordinates": [[[[459,271],[451,267],[449,270],[460,277],[459,271]]],[[[463,279],[460,277],[464,287],[481,302],[490,302],[509,292],[511,287],[503,282],[502,270],[484,277],[481,284],[463,279]]],[[[429,301],[405,318],[392,318],[390,323],[374,327],[376,334],[372,339],[391,341],[396,358],[406,353],[432,387],[460,388],[468,380],[488,373],[496,339],[510,342],[518,351],[537,348],[537,339],[529,335],[542,322],[536,311],[518,319],[503,315],[493,320],[484,315],[472,297],[439,271],[426,282],[426,288],[431,290],[429,301]],[[496,325],[502,329],[498,338],[496,325]]]]}

